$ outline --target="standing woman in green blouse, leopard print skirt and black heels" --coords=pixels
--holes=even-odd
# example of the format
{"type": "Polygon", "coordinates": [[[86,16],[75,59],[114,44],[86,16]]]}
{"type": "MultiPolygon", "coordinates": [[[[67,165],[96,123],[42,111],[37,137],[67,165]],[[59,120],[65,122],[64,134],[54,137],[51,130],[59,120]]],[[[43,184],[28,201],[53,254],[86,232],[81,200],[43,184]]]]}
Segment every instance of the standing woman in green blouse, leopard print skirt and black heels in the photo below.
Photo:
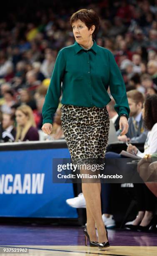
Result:
{"type": "MultiPolygon", "coordinates": [[[[99,29],[99,17],[94,10],[81,9],[70,18],[75,44],[62,48],[55,62],[50,86],[42,108],[42,131],[50,134],[54,115],[61,94],[62,129],[71,159],[104,159],[108,142],[110,119],[106,105],[107,93],[115,99],[115,110],[120,116],[122,135],[127,133],[130,108],[125,84],[112,53],[92,39],[99,29]]],[[[86,200],[87,230],[84,230],[91,246],[109,246],[102,220],[101,184],[83,183],[86,200]],[[99,245],[95,224],[97,226],[99,245]],[[87,232],[88,231],[88,232],[87,232]]]]}

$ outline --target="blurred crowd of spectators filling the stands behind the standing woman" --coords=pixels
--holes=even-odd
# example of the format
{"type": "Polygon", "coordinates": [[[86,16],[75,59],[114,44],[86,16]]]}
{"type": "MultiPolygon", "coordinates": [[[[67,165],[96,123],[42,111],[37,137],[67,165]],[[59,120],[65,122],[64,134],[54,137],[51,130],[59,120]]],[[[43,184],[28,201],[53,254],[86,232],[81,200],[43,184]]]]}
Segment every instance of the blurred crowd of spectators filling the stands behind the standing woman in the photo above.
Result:
{"type": "MultiPolygon", "coordinates": [[[[57,52],[75,42],[70,15],[76,7],[71,5],[60,11],[38,7],[28,12],[21,7],[20,14],[7,13],[6,20],[0,22],[1,122],[6,115],[12,120],[20,111],[17,108],[28,105],[35,121],[33,127],[41,130],[42,105],[57,52]]],[[[100,30],[95,41],[114,54],[126,90],[157,94],[157,0],[88,0],[83,5],[80,1],[77,10],[80,8],[92,8],[99,15],[100,30]]],[[[60,107],[61,103],[58,113],[60,107]]],[[[17,127],[16,117],[14,125],[17,127]]],[[[52,133],[57,131],[57,136],[51,139],[63,138],[60,122],[54,120],[53,125],[52,133]]],[[[41,138],[46,137],[35,136],[32,140],[41,138]]]]}

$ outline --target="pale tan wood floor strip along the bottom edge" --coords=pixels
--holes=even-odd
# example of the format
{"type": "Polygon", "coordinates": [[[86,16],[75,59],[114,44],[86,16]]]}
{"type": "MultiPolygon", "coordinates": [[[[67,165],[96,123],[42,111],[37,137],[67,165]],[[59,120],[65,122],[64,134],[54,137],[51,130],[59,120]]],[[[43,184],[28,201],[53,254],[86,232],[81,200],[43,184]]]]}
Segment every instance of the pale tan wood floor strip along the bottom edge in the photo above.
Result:
{"type": "MultiPolygon", "coordinates": [[[[0,246],[1,247],[1,246],[0,246]]],[[[106,250],[98,250],[90,246],[5,246],[5,248],[29,248],[29,256],[157,256],[156,246],[110,246],[106,250]]],[[[0,256],[7,255],[1,254],[0,256]]],[[[9,253],[9,256],[28,254],[9,253]]]]}

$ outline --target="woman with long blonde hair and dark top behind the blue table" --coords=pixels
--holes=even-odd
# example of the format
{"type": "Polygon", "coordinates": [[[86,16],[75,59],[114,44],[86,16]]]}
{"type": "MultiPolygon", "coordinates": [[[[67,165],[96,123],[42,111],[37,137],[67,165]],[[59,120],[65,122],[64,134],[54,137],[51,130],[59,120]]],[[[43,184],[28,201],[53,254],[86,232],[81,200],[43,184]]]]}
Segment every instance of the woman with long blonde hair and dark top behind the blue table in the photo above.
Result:
{"type": "Polygon", "coordinates": [[[39,141],[32,109],[21,105],[15,112],[17,128],[15,141],[39,141]]]}

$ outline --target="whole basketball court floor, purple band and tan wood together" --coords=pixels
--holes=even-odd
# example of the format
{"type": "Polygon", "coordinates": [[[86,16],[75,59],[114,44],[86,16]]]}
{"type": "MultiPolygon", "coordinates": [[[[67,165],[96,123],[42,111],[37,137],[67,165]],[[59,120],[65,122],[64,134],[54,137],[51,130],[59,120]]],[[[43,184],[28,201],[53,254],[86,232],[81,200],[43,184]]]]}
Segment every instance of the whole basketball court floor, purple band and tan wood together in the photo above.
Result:
{"type": "Polygon", "coordinates": [[[5,248],[28,248],[29,256],[157,256],[157,233],[108,230],[110,247],[85,246],[83,227],[47,225],[0,225],[0,256],[5,248]]]}

